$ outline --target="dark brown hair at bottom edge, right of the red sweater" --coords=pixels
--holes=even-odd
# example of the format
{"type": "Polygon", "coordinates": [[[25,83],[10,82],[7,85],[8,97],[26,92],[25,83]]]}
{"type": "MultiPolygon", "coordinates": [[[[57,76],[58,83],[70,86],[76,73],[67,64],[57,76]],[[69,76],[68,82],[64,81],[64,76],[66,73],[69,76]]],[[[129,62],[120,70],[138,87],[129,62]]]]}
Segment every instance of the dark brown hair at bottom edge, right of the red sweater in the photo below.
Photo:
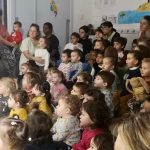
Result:
{"type": "Polygon", "coordinates": [[[97,150],[113,150],[114,143],[113,137],[110,133],[103,133],[96,135],[93,138],[93,143],[96,145],[97,150]]]}

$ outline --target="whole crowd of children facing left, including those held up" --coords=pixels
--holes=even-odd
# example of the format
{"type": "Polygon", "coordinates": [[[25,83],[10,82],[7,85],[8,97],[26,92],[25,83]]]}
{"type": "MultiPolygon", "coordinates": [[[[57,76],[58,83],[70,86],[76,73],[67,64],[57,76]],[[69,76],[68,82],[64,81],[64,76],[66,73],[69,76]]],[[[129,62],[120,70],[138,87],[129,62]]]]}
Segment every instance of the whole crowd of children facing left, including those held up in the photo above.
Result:
{"type": "MultiPolygon", "coordinates": [[[[146,21],[150,27],[150,16],[146,21]]],[[[20,27],[14,23],[9,42],[20,42],[15,38],[20,27]]],[[[0,119],[0,149],[150,149],[147,40],[140,37],[125,50],[127,39],[111,22],[98,27],[94,41],[82,26],[49,67],[47,40],[39,38],[34,59],[21,64],[18,78],[0,78],[0,117],[5,117],[0,119]],[[131,84],[132,79],[137,80],[131,84]]]]}

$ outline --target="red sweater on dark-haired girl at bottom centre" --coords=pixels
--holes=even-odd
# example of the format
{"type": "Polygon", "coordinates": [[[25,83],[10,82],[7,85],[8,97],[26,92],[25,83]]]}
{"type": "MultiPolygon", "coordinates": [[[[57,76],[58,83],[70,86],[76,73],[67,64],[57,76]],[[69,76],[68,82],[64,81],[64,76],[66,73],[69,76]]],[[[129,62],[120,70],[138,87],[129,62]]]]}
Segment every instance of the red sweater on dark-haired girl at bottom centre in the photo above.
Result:
{"type": "Polygon", "coordinates": [[[72,146],[73,150],[87,150],[90,147],[91,139],[94,136],[102,133],[104,133],[104,131],[99,128],[93,130],[86,128],[83,131],[81,140],[72,146]]]}

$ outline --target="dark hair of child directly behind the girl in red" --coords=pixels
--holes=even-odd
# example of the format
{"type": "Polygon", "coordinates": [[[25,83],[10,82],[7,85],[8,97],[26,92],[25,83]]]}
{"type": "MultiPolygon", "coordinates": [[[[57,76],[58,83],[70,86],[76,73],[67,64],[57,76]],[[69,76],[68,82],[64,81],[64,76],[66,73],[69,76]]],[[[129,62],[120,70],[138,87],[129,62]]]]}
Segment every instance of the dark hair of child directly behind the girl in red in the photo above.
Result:
{"type": "Polygon", "coordinates": [[[90,96],[93,98],[94,101],[103,101],[105,100],[105,96],[103,93],[101,93],[100,90],[98,90],[95,87],[89,87],[85,90],[84,94],[90,96]]]}

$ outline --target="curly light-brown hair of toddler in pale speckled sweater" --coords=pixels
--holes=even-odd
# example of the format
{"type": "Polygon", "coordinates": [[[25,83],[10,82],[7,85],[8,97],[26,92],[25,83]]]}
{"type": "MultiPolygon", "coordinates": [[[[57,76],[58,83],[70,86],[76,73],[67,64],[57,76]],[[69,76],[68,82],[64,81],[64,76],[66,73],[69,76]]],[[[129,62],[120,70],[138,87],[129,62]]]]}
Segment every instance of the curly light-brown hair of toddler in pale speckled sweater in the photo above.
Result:
{"type": "Polygon", "coordinates": [[[80,112],[81,101],[78,96],[67,94],[62,96],[60,99],[62,99],[67,105],[69,105],[71,115],[76,116],[80,112]]]}

